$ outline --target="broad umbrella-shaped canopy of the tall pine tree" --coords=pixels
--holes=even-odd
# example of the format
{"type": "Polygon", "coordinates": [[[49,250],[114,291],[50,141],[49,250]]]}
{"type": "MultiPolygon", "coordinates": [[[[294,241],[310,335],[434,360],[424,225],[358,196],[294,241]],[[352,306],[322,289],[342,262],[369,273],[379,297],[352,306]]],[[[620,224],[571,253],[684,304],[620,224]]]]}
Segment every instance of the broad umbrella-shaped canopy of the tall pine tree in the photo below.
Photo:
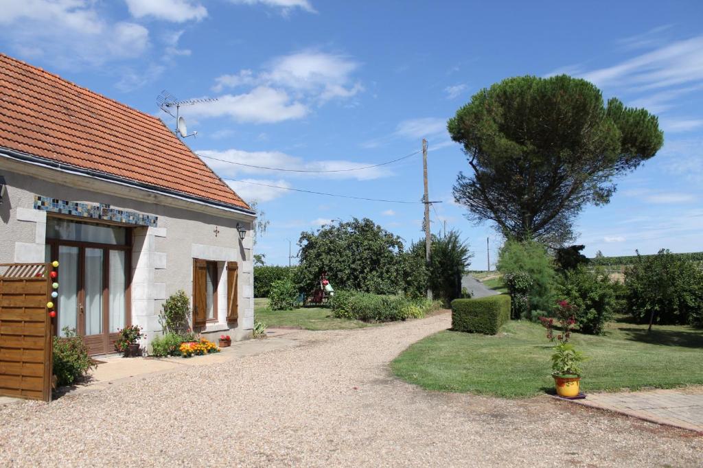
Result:
{"type": "Polygon", "coordinates": [[[482,89],[449,120],[472,174],[460,173],[456,201],[476,222],[504,235],[561,245],[587,204],[607,204],[614,179],[636,169],[664,143],[657,117],[604,105],[583,79],[514,77],[482,89]]]}

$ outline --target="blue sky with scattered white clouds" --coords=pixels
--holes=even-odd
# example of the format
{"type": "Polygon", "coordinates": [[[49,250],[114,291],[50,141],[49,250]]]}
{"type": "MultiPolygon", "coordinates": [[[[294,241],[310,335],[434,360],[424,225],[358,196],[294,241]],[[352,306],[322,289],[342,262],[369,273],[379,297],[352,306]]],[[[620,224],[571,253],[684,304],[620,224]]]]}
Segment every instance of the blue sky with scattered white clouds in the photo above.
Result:
{"type": "MultiPolygon", "coordinates": [[[[699,1],[321,0],[0,1],[1,50],[160,115],[156,97],[218,98],[182,109],[201,155],[288,169],[385,162],[430,142],[432,229],[459,229],[486,267],[500,237],[472,226],[451,188],[467,164],[446,119],[503,78],[566,72],[659,115],[664,148],[619,181],[576,230],[586,254],[703,249],[703,4],[699,1]]],[[[376,169],[295,174],[204,159],[269,232],[257,251],[288,263],[288,240],[368,217],[418,240],[421,204],[365,202],[254,186],[420,200],[420,155],[376,169]]],[[[294,259],[295,262],[295,259],[294,259]]]]}

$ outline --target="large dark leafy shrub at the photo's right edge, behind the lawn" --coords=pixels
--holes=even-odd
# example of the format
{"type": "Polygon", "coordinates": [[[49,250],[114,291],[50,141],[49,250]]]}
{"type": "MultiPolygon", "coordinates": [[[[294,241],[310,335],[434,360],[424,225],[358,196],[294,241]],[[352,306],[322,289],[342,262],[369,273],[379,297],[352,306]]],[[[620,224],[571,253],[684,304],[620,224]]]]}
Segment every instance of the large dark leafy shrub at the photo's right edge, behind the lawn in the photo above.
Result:
{"type": "Polygon", "coordinates": [[[640,322],[703,325],[703,271],[685,256],[659,250],[625,270],[627,310],[640,322]]]}

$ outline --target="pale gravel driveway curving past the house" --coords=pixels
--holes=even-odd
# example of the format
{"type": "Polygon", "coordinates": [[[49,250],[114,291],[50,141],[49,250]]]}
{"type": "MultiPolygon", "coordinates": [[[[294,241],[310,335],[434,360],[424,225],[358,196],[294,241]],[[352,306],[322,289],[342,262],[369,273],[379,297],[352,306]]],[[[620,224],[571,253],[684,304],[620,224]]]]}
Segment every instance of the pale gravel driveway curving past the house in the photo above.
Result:
{"type": "Polygon", "coordinates": [[[548,397],[391,377],[449,315],[295,332],[302,346],[0,408],[0,466],[701,466],[703,438],[548,397]]]}

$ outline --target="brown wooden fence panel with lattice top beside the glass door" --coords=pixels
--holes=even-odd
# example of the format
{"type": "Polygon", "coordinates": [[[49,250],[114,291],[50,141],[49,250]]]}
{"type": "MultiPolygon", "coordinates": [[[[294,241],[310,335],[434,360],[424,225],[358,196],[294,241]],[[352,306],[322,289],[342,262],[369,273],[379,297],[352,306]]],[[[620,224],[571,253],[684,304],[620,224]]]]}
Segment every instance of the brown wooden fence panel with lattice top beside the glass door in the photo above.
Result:
{"type": "Polygon", "coordinates": [[[0,396],[51,401],[51,264],[0,264],[0,396]]]}

